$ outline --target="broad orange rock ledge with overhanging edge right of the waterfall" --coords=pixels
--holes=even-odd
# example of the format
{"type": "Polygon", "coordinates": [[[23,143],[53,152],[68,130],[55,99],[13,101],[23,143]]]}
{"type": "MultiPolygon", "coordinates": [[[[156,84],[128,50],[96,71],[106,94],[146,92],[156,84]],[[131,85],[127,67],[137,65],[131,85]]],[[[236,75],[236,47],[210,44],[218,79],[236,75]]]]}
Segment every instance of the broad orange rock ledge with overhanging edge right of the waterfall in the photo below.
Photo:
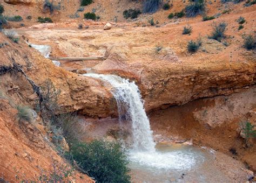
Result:
{"type": "MultiPolygon", "coordinates": [[[[251,13],[244,16],[249,17],[251,13]]],[[[236,18],[224,20],[229,25],[236,18]]],[[[248,18],[248,23],[250,21],[248,18]]],[[[211,22],[191,23],[193,32],[189,37],[181,33],[184,25],[152,29],[127,26],[110,30],[107,34],[100,26],[83,32],[54,28],[23,32],[30,41],[51,45],[55,50],[53,54],[89,57],[109,52],[104,61],[80,62],[77,67],[136,81],[147,111],[185,104],[197,98],[228,95],[239,88],[254,85],[255,57],[253,52],[242,48],[242,38],[233,32],[231,26],[226,34],[232,33],[234,38],[226,47],[217,40],[208,39],[208,32],[202,27],[212,29],[211,22]],[[190,54],[187,42],[197,39],[198,34],[201,34],[202,45],[197,53],[190,54]],[[49,37],[51,40],[46,40],[49,37]]],[[[63,62],[64,67],[70,65],[63,62]]]]}

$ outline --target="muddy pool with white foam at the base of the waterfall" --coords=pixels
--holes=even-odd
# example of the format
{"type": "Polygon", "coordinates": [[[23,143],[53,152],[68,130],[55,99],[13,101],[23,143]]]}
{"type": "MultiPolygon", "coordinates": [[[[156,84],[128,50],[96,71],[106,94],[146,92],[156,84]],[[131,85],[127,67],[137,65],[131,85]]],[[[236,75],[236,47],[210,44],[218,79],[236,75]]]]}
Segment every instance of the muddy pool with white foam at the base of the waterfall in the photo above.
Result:
{"type": "Polygon", "coordinates": [[[214,154],[192,145],[157,144],[156,152],[129,152],[132,182],[232,181],[214,165],[214,154]]]}

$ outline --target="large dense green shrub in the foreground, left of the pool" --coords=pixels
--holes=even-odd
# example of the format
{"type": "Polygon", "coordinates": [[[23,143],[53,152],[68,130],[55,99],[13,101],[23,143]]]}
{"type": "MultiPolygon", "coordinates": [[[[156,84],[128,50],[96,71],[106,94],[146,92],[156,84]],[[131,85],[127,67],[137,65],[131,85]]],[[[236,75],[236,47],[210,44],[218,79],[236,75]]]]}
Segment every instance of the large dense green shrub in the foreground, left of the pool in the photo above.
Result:
{"type": "Polygon", "coordinates": [[[130,182],[126,154],[119,143],[93,140],[76,143],[69,156],[97,182],[130,182]]]}

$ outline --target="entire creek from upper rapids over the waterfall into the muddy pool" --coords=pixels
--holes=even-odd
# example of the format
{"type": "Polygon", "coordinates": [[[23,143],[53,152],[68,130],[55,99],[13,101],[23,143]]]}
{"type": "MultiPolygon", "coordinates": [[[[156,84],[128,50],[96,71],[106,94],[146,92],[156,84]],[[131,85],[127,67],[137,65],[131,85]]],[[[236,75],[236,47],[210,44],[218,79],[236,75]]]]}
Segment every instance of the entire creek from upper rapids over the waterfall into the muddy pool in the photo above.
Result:
{"type": "MultiPolygon", "coordinates": [[[[51,47],[33,45],[45,58],[51,47]]],[[[60,63],[53,61],[57,66],[60,63]]],[[[226,182],[230,178],[214,166],[214,154],[192,145],[156,144],[138,86],[117,75],[84,76],[110,83],[116,99],[120,126],[129,121],[132,142],[127,149],[133,182],[226,182]]]]}

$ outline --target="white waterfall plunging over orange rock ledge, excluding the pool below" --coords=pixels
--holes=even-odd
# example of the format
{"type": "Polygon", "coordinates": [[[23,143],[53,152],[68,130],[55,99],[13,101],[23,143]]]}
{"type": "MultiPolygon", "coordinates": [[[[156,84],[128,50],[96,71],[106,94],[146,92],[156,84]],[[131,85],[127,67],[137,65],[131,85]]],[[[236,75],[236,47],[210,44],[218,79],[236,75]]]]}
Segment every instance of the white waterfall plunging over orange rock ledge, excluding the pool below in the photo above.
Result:
{"type": "Polygon", "coordinates": [[[156,144],[153,141],[153,132],[150,129],[150,122],[143,106],[142,96],[134,81],[130,82],[117,75],[87,73],[84,76],[102,79],[112,85],[111,92],[117,101],[119,121],[131,122],[132,150],[154,152],[156,144]]]}

